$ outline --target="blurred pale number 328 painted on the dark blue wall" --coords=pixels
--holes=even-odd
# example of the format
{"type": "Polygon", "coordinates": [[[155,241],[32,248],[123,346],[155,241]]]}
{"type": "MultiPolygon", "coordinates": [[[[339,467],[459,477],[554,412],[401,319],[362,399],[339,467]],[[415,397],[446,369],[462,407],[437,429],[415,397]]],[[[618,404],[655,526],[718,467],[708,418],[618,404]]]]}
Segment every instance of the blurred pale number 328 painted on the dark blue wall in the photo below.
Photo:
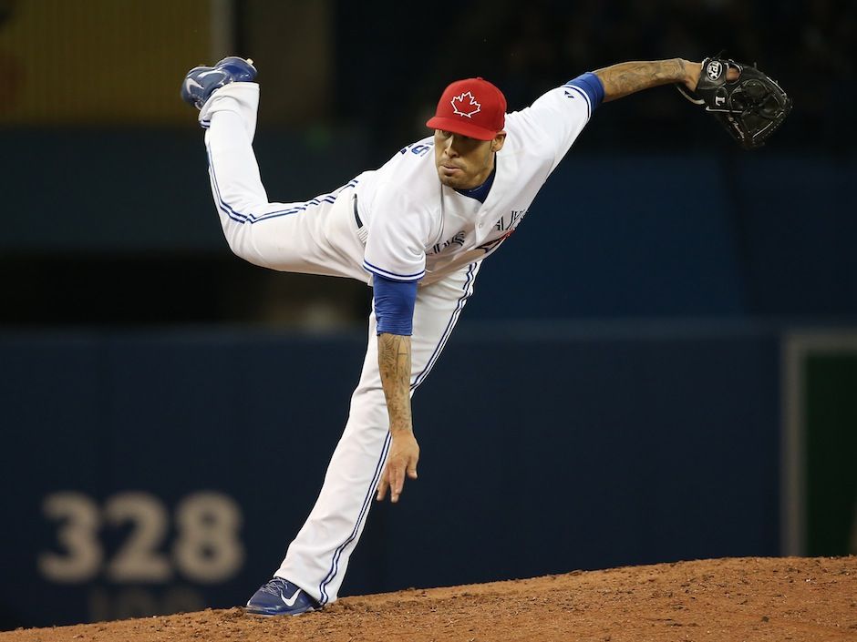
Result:
{"type": "Polygon", "coordinates": [[[114,494],[99,508],[86,494],[54,493],[46,496],[42,510],[59,522],[60,552],[38,556],[39,572],[53,582],[88,582],[103,570],[118,583],[168,582],[178,571],[191,581],[214,584],[234,576],[243,564],[241,509],[225,494],[194,493],[179,502],[171,556],[160,550],[170,533],[170,515],[152,494],[114,494]],[[101,528],[122,525],[131,525],[130,533],[105,559],[101,528]]]}

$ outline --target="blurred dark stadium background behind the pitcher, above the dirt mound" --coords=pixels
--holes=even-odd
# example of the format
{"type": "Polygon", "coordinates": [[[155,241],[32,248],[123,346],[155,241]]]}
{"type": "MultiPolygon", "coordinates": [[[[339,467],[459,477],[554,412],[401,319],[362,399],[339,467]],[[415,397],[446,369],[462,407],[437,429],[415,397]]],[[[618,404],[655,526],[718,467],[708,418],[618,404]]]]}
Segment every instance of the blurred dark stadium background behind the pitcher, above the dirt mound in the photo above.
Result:
{"type": "Polygon", "coordinates": [[[749,153],[672,87],[595,112],[481,270],[343,595],[857,553],[857,5],[0,0],[0,629],[242,604],[345,423],[371,290],[231,255],[191,66],[253,57],[263,180],[302,201],[453,79],[513,110],[721,49],[789,119],[749,153]]]}

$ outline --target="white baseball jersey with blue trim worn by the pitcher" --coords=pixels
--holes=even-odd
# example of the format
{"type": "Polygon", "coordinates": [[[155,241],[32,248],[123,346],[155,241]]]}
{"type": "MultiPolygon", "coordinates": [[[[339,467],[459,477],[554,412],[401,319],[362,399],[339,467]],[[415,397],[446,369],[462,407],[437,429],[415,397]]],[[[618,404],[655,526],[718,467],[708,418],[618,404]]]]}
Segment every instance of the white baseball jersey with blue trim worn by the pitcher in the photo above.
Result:
{"type": "Polygon", "coordinates": [[[433,138],[358,176],[358,213],[367,228],[363,267],[428,285],[484,259],[521,223],[591,113],[586,93],[569,85],[508,114],[506,142],[495,157],[484,203],[440,183],[433,138]]]}

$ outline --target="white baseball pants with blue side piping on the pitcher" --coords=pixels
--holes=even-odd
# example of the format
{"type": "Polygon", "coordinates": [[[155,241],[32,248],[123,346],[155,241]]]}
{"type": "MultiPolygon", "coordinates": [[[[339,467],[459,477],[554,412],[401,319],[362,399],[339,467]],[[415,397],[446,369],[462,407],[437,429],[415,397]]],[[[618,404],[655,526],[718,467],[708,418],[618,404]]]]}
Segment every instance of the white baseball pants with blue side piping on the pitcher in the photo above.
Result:
{"type": "MultiPolygon", "coordinates": [[[[259,87],[219,89],[200,113],[212,194],[223,233],[235,254],[256,265],[369,282],[361,267],[351,184],[304,203],[271,203],[253,155],[259,87]]],[[[473,292],[480,264],[418,288],[411,338],[411,394],[425,381],[473,292]]],[[[418,434],[418,423],[416,423],[418,434]]],[[[369,315],[366,360],[351,397],[345,432],[327,468],[325,484],[305,525],[275,572],[322,604],[336,600],[390,443],[387,403],[377,363],[376,320],[369,315]]]]}

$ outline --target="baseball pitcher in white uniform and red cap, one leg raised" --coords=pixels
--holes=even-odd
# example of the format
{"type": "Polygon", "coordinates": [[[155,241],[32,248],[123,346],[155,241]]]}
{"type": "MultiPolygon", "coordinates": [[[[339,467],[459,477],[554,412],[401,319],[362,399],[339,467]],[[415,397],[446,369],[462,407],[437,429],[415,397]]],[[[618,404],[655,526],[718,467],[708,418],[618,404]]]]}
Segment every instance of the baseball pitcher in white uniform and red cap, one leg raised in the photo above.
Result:
{"type": "Polygon", "coordinates": [[[431,134],[382,167],[315,199],[274,203],[253,156],[255,76],[252,61],[231,56],[191,69],[181,86],[200,109],[230,248],[272,270],[360,280],[374,294],[363,372],[324,486],[274,578],[246,606],[296,615],[336,600],[373,497],[398,502],[406,478],[417,479],[411,395],[449,341],[482,261],[526,218],[594,110],[676,84],[752,148],[779,127],[790,101],[755,67],[720,58],[608,66],[508,114],[498,87],[468,78],[441,94],[431,134]]]}

